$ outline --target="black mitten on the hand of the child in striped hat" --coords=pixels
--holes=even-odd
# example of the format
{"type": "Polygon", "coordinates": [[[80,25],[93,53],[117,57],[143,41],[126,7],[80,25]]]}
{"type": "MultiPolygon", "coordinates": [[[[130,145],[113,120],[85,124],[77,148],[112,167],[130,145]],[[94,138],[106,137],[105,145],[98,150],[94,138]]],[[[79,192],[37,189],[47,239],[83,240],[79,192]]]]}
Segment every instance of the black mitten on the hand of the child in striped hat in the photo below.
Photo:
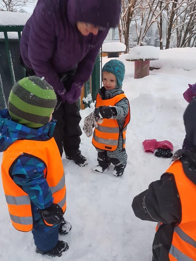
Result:
{"type": "Polygon", "coordinates": [[[63,210],[58,204],[40,209],[43,222],[48,226],[58,225],[63,221],[63,210]]]}

